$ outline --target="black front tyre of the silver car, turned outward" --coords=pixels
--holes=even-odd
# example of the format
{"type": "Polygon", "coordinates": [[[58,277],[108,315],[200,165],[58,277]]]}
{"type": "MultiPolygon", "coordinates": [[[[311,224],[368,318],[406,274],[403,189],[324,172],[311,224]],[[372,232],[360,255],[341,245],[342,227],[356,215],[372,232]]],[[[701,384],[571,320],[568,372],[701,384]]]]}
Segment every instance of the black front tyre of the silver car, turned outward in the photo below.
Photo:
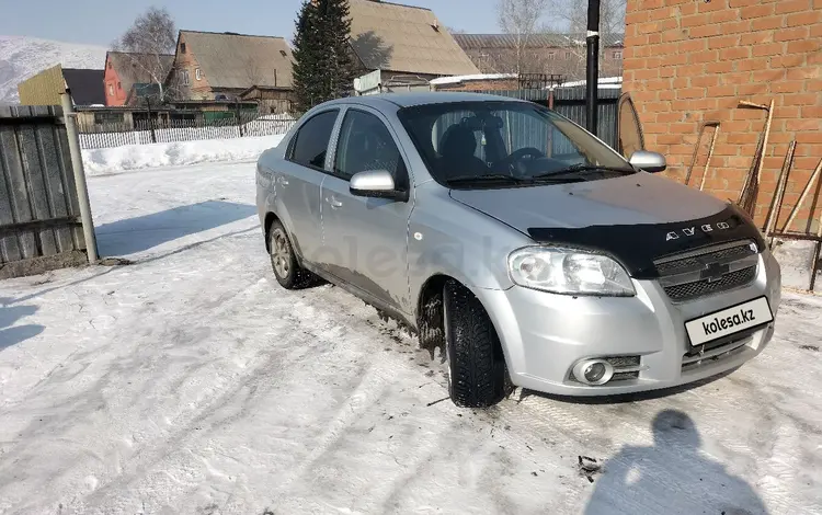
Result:
{"type": "Polygon", "coordinates": [[[458,407],[487,408],[505,397],[505,358],[479,299],[455,281],[443,293],[448,393],[458,407]]]}

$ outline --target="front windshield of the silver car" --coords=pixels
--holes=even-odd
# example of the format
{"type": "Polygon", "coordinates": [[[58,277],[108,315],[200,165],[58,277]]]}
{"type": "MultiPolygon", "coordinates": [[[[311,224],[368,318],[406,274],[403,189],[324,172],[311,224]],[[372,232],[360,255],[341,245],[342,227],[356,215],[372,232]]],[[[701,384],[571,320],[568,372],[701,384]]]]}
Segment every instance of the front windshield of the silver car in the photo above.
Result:
{"type": "Polygon", "coordinates": [[[567,118],[525,102],[406,107],[400,121],[431,175],[453,188],[595,181],[636,173],[567,118]]]}

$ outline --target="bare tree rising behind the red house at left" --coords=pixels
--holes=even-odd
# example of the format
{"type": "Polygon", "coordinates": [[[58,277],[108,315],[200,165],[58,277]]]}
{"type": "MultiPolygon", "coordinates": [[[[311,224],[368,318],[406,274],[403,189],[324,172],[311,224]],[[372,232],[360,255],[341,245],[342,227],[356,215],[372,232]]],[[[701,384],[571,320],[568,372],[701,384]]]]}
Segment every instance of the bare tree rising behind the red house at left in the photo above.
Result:
{"type": "Polygon", "coordinates": [[[150,7],[137,16],[115,43],[114,49],[128,53],[130,64],[159,88],[160,101],[165,99],[168,56],[176,47],[176,26],[165,8],[150,7]]]}

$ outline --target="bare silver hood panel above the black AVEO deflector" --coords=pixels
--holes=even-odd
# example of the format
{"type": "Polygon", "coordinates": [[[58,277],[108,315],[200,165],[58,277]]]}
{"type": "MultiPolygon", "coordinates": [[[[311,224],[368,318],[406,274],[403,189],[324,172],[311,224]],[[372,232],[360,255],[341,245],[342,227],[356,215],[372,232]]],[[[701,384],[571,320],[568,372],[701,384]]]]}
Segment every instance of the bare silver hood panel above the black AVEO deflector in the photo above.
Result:
{"type": "Polygon", "coordinates": [[[646,172],[562,185],[452,190],[450,196],[524,233],[535,227],[671,224],[727,207],[708,194],[646,172]]]}

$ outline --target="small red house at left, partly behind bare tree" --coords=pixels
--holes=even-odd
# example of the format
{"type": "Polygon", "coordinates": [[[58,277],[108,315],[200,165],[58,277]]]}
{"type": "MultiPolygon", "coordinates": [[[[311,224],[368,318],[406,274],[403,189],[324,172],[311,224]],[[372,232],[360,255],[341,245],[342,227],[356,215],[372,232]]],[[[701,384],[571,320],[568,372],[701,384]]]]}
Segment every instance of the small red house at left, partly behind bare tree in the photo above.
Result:
{"type": "MultiPolygon", "coordinates": [[[[109,52],[105,55],[105,105],[126,105],[128,93],[135,84],[157,83],[155,77],[164,79],[174,61],[172,55],[149,56],[127,52],[109,52]]],[[[161,80],[162,80],[161,79],[161,80]]]]}

